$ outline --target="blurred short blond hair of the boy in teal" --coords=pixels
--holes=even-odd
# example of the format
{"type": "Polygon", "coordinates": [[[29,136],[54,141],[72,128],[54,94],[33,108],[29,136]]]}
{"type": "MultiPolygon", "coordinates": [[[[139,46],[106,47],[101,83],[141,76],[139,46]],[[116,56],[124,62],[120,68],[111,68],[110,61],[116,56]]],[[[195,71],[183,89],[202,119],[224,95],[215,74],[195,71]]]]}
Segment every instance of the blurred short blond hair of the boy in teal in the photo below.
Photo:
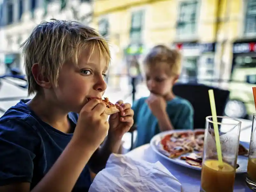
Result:
{"type": "Polygon", "coordinates": [[[177,50],[172,50],[165,45],[156,45],[153,47],[144,59],[146,66],[157,67],[158,64],[166,63],[169,70],[167,75],[180,75],[181,55],[177,50]]]}

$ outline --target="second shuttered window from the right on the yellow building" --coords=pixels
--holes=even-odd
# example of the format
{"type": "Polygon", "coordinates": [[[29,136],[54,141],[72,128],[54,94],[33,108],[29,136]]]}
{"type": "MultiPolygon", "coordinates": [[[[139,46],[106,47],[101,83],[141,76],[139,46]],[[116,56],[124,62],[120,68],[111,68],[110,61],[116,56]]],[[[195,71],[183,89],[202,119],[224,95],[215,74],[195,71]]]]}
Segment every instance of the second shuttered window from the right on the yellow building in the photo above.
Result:
{"type": "Polygon", "coordinates": [[[180,3],[177,21],[177,35],[195,35],[197,23],[197,1],[185,1],[180,3]]]}

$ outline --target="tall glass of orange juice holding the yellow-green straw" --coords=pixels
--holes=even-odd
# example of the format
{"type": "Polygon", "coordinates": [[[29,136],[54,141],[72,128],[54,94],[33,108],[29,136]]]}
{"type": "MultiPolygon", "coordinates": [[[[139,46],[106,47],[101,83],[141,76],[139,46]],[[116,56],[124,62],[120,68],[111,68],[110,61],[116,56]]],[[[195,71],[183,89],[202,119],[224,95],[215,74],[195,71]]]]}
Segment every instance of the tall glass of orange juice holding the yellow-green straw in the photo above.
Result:
{"type": "Polygon", "coordinates": [[[217,122],[213,122],[212,116],[206,117],[201,192],[233,192],[240,129],[239,120],[217,116],[217,122]],[[217,156],[214,123],[218,125],[222,163],[217,156]]]}

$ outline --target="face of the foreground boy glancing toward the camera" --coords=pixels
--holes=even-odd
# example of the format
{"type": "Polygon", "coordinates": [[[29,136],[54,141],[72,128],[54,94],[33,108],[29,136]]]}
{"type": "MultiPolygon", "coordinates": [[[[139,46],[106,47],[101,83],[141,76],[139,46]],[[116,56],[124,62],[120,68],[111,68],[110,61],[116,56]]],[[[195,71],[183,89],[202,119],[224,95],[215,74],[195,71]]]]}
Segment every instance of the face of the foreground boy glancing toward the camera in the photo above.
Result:
{"type": "Polygon", "coordinates": [[[104,94],[107,84],[105,76],[108,65],[100,59],[94,49],[90,59],[88,53],[82,52],[78,68],[72,62],[66,62],[60,69],[58,87],[54,87],[55,97],[65,110],[79,113],[86,104],[87,98],[104,94]]]}

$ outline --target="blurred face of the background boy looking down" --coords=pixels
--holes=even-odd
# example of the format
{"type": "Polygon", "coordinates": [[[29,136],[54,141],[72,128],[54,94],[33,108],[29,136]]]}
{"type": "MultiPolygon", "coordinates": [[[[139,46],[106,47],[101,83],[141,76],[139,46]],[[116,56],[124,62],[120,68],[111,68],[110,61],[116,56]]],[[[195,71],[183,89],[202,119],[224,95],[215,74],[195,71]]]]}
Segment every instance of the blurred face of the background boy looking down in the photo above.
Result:
{"type": "Polygon", "coordinates": [[[156,66],[146,66],[147,87],[151,93],[166,96],[172,91],[172,86],[178,79],[178,76],[168,76],[166,71],[170,70],[166,63],[156,66]]]}

